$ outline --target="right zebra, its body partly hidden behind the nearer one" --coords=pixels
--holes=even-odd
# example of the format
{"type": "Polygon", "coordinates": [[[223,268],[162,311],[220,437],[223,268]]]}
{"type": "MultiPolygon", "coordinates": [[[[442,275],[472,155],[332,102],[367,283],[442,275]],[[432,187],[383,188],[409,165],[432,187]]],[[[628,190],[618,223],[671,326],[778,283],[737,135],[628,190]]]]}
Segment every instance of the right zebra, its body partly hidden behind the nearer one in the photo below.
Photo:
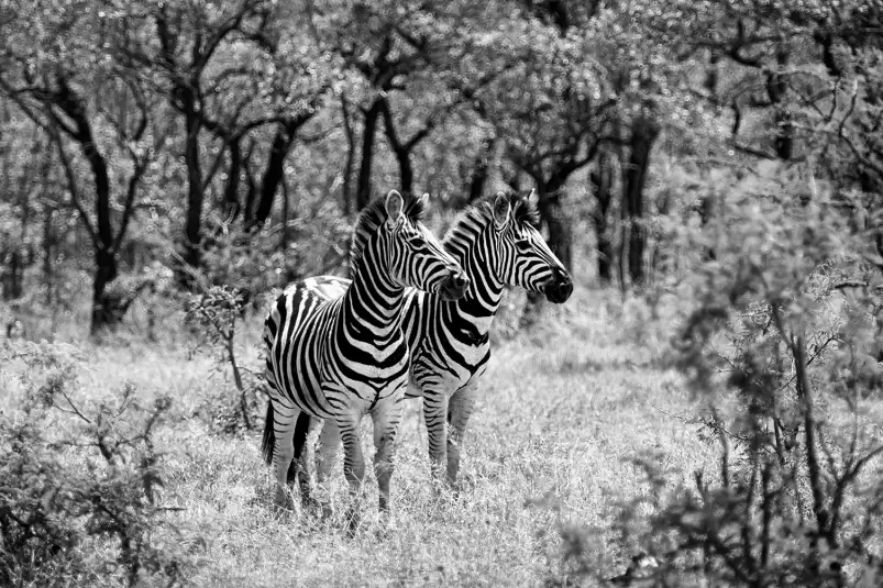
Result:
{"type": "MultiPolygon", "coordinates": [[[[570,275],[538,223],[534,192],[527,198],[498,192],[478,200],[457,215],[443,241],[470,278],[465,296],[449,301],[432,292],[408,292],[405,331],[411,368],[406,396],[423,397],[435,478],[446,465],[448,480],[456,481],[460,446],[490,358],[488,332],[504,287],[542,292],[555,303],[573,292],[570,275]]],[[[320,436],[320,481],[336,452],[333,435],[323,429],[320,436]]]]}

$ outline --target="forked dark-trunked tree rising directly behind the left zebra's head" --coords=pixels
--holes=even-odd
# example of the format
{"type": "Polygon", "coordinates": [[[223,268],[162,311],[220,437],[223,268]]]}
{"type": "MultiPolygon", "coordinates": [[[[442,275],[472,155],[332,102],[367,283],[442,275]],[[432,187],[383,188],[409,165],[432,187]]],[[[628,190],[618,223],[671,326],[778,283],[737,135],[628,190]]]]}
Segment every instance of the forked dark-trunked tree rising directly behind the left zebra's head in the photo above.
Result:
{"type": "Polygon", "coordinates": [[[493,78],[467,73],[461,63],[472,35],[483,27],[482,13],[462,1],[325,4],[313,10],[320,43],[341,55],[351,74],[344,123],[350,157],[354,158],[356,143],[361,153],[354,209],[371,199],[379,124],[398,167],[399,187],[412,192],[419,174],[418,147],[493,78]],[[362,112],[361,141],[356,141],[349,104],[357,104],[362,112]]]}

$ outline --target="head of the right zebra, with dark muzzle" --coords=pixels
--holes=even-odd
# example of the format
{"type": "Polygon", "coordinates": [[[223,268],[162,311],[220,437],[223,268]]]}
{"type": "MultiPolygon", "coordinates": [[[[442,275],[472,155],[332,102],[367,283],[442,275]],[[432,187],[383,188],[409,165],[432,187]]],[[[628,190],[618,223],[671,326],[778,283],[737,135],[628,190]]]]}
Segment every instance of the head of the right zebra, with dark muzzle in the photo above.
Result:
{"type": "Polygon", "coordinates": [[[560,304],[573,293],[573,280],[537,230],[539,198],[497,192],[493,201],[495,254],[492,264],[499,281],[542,292],[560,304]]]}

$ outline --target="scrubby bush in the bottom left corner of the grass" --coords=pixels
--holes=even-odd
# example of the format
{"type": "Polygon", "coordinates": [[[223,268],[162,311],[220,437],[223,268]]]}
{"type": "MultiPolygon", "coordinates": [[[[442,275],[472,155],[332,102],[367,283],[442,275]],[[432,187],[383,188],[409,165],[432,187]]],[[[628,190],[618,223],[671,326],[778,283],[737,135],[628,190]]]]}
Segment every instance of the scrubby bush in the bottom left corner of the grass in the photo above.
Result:
{"type": "Polygon", "coordinates": [[[0,415],[0,585],[179,584],[186,558],[169,547],[154,444],[170,401],[142,404],[126,386],[89,406],[70,347],[4,351],[45,377],[22,382],[21,407],[0,415]]]}

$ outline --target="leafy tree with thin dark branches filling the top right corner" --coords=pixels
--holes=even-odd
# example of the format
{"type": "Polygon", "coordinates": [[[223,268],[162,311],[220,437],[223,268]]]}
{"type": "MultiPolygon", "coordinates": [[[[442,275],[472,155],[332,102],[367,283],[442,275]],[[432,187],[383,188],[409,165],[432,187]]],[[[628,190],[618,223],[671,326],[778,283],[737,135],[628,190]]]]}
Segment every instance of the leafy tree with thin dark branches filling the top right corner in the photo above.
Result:
{"type": "Polygon", "coordinates": [[[882,9],[876,0],[663,2],[644,22],[684,62],[713,67],[703,87],[687,81],[697,106],[728,114],[714,154],[806,165],[834,182],[841,206],[873,210],[883,188],[882,9]]]}

